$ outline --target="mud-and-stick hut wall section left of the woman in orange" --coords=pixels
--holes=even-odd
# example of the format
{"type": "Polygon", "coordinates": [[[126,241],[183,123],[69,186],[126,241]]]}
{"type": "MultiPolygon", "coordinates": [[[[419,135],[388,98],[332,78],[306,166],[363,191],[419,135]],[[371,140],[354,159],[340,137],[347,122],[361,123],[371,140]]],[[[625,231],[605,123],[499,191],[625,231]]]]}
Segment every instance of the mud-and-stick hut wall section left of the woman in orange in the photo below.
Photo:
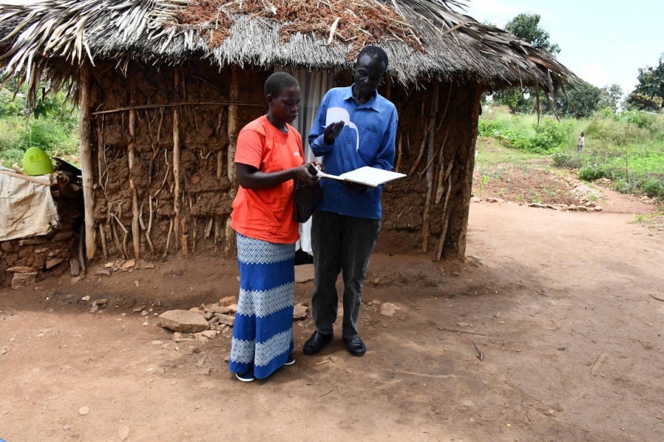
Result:
{"type": "Polygon", "coordinates": [[[236,186],[228,179],[229,139],[236,136],[228,132],[229,108],[239,127],[263,115],[268,75],[247,68],[234,76],[230,68],[206,65],[157,72],[132,63],[126,75],[114,65],[93,69],[94,221],[105,259],[135,257],[136,207],[142,257],[223,250],[236,186]],[[230,106],[232,86],[236,106],[230,106]]]}

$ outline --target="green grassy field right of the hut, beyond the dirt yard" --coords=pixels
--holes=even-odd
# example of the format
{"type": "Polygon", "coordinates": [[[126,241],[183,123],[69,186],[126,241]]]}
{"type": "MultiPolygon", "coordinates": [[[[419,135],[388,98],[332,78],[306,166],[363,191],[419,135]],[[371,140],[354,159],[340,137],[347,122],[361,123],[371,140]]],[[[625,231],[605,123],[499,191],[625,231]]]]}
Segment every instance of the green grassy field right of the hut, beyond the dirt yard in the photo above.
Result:
{"type": "Polygon", "coordinates": [[[560,123],[543,117],[538,124],[535,115],[488,108],[480,117],[478,135],[518,152],[549,154],[555,166],[578,170],[586,181],[609,178],[618,191],[664,198],[664,115],[601,111],[590,119],[560,123]],[[586,148],[576,152],[582,131],[586,148]]]}

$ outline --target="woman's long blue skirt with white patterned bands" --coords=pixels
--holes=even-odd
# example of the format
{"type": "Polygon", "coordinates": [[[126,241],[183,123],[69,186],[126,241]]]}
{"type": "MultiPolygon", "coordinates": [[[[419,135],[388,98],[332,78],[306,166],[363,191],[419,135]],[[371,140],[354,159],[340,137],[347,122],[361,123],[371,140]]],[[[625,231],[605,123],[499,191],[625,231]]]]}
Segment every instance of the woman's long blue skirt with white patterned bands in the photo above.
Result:
{"type": "Polygon", "coordinates": [[[273,244],[237,233],[240,298],[228,367],[272,374],[293,351],[295,244],[273,244]]]}

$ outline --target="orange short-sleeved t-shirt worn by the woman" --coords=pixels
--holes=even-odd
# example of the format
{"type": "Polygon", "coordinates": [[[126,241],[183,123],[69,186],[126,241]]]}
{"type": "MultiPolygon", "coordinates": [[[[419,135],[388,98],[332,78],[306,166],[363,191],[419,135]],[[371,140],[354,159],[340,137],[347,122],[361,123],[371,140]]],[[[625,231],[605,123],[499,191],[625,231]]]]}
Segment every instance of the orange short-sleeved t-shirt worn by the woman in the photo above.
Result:
{"type": "MultiPolygon", "coordinates": [[[[263,115],[243,127],[237,138],[235,163],[252,165],[261,172],[278,172],[305,163],[302,137],[293,126],[288,133],[272,126],[263,115]]],[[[240,186],[233,201],[232,227],[242,235],[276,244],[300,237],[293,220],[293,181],[269,189],[240,186]]]]}

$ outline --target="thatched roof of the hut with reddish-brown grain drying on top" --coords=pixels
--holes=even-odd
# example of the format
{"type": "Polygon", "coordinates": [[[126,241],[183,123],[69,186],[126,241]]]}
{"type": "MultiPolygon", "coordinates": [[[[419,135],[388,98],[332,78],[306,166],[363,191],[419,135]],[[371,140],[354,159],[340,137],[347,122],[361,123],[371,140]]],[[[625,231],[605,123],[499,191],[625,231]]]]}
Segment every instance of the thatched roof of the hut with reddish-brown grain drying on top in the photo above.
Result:
{"type": "Polygon", "coordinates": [[[403,84],[421,78],[540,86],[574,79],[545,49],[458,10],[457,0],[50,0],[0,5],[0,67],[54,86],[91,62],[292,65],[347,70],[362,45],[390,56],[403,84]],[[294,5],[296,6],[294,8],[294,5]],[[299,12],[299,13],[298,13],[299,12]]]}

